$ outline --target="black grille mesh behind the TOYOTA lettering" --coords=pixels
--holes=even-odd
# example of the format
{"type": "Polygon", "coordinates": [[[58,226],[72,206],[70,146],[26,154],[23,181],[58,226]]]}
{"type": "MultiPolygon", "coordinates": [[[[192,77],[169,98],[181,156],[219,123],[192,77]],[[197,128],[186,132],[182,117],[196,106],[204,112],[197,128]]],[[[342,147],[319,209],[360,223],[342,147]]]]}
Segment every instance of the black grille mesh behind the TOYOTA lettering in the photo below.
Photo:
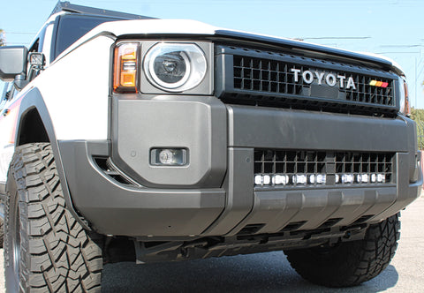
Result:
{"type": "MultiPolygon", "coordinates": [[[[270,94],[293,94],[307,97],[333,98],[337,100],[356,101],[371,105],[393,106],[393,82],[391,79],[382,79],[375,76],[367,76],[347,71],[329,71],[319,67],[301,66],[271,59],[257,58],[251,56],[234,56],[234,88],[258,93],[270,94]],[[292,69],[300,71],[319,71],[345,76],[344,85],[329,87],[326,92],[314,93],[311,85],[305,83],[301,77],[295,82],[292,69]],[[356,89],[346,89],[349,77],[354,80],[356,89]],[[385,82],[387,87],[370,86],[372,80],[385,82]],[[338,88],[337,88],[338,87],[338,88]],[[337,91],[337,92],[336,92],[337,91]],[[329,96],[328,94],[331,94],[329,96]]],[[[314,85],[313,85],[314,86],[314,85]]]]}

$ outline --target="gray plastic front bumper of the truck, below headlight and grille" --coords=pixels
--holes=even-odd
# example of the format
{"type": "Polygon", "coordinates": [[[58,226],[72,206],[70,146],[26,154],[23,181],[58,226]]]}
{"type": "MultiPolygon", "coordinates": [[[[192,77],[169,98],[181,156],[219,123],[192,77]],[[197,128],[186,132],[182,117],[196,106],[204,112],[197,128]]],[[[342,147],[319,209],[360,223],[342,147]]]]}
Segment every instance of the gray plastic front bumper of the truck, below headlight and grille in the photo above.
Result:
{"type": "MultiPolygon", "coordinates": [[[[181,97],[170,98],[170,105],[180,105],[178,99],[181,97]]],[[[125,124],[126,128],[120,132],[121,136],[112,134],[112,143],[59,142],[73,205],[95,230],[155,240],[231,236],[255,224],[261,224],[257,233],[277,233],[292,222],[304,222],[301,229],[317,229],[330,218],[341,218],[338,225],[348,226],[370,214],[372,217],[367,222],[378,222],[396,214],[420,194],[422,176],[416,161],[415,126],[407,118],[228,106],[214,98],[190,99],[183,100],[195,117],[170,110],[161,119],[155,119],[154,124],[146,122],[145,133],[154,134],[153,139],[140,131],[140,123],[148,113],[144,110],[162,109],[166,100],[160,101],[161,108],[155,100],[125,100],[125,116],[115,116],[112,129],[119,131],[117,123],[125,124]],[[222,119],[222,113],[226,113],[224,121],[214,120],[222,119]],[[193,127],[196,119],[200,123],[193,127]],[[140,123],[134,123],[137,121],[140,123]],[[176,146],[186,146],[194,152],[196,157],[190,167],[204,172],[195,174],[196,180],[183,176],[178,184],[170,178],[178,174],[178,169],[168,173],[166,168],[160,172],[155,169],[154,177],[145,178],[141,173],[148,174],[148,159],[125,162],[123,155],[116,162],[118,168],[131,169],[125,174],[143,185],[129,186],[117,183],[95,165],[93,157],[116,158],[114,148],[124,146],[127,141],[131,145],[122,149],[137,150],[141,146],[148,150],[157,146],[161,139],[157,131],[163,129],[160,123],[184,133],[167,132],[166,144],[173,146],[175,141],[176,146]],[[132,133],[138,133],[135,140],[132,133]],[[202,137],[207,138],[208,147],[191,149],[204,145],[199,139],[202,137]],[[397,184],[255,188],[254,148],[393,152],[397,184]],[[202,160],[200,154],[209,159],[202,160]],[[141,172],[133,176],[137,173],[134,169],[141,172]]],[[[119,103],[114,101],[115,113],[120,113],[119,103]]],[[[150,114],[150,117],[154,116],[150,114]]],[[[181,169],[181,172],[192,171],[181,169]]]]}

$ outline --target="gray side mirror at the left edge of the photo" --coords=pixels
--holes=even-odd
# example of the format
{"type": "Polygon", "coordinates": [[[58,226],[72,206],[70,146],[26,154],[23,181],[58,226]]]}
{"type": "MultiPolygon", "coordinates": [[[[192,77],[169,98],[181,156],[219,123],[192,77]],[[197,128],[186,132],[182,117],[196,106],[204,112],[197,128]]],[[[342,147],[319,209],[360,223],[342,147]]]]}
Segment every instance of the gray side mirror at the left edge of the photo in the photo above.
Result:
{"type": "Polygon", "coordinates": [[[28,49],[25,46],[0,47],[0,79],[12,81],[27,73],[28,49]]]}

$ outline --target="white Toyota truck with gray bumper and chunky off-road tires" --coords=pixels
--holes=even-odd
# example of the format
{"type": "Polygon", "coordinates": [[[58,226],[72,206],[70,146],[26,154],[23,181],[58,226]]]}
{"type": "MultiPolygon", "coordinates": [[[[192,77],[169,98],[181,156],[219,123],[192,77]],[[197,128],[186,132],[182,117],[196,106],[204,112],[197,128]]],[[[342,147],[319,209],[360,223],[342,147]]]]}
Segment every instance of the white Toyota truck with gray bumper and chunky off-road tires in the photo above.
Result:
{"type": "Polygon", "coordinates": [[[0,48],[8,292],[99,292],[104,263],[282,251],[380,274],[422,174],[390,60],[59,2],[0,48]]]}

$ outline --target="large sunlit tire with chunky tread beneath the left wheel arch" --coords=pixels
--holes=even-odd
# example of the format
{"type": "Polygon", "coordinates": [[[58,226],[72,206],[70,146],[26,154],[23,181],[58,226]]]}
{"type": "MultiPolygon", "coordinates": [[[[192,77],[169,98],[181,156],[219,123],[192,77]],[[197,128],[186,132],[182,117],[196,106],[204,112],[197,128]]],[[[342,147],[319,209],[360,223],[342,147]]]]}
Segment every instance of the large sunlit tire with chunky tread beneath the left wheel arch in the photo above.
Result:
{"type": "Polygon", "coordinates": [[[100,242],[66,209],[49,144],[16,148],[6,192],[7,292],[100,292],[100,242]]]}

